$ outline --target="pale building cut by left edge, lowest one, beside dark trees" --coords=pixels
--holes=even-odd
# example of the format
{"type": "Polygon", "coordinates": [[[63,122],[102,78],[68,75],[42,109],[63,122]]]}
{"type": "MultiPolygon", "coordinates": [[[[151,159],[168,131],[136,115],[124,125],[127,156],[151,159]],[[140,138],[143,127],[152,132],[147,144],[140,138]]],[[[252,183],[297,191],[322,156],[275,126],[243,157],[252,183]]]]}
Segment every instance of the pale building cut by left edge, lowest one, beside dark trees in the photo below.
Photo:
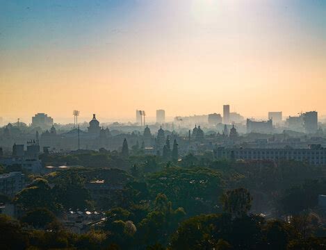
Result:
{"type": "Polygon", "coordinates": [[[22,172],[0,174],[0,193],[13,197],[25,188],[25,175],[22,172]]]}

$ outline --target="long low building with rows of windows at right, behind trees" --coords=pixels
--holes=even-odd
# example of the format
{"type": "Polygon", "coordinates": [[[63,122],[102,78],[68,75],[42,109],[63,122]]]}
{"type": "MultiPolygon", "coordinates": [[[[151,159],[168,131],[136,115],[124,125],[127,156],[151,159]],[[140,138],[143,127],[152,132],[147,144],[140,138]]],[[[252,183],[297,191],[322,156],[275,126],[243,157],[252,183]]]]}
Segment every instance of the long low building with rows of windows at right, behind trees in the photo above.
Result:
{"type": "Polygon", "coordinates": [[[230,160],[297,160],[311,165],[326,165],[326,148],[314,146],[309,149],[225,149],[220,147],[215,151],[215,157],[230,160]]]}

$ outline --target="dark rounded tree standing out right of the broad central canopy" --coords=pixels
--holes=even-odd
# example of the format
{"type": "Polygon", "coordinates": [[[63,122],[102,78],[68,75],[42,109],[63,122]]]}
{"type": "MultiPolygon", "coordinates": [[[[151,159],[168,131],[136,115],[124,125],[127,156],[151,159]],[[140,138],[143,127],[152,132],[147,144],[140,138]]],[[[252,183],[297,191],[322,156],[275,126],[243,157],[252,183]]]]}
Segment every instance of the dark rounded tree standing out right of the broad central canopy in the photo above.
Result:
{"type": "Polygon", "coordinates": [[[243,217],[251,208],[252,197],[245,188],[228,190],[222,195],[223,210],[232,217],[243,217]]]}

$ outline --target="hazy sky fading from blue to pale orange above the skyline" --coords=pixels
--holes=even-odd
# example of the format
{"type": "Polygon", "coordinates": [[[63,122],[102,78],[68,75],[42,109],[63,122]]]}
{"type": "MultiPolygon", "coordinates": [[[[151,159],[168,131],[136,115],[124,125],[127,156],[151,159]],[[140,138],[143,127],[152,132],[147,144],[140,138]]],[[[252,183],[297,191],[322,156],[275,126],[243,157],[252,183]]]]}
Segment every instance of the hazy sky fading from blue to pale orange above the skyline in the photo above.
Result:
{"type": "Polygon", "coordinates": [[[325,0],[0,0],[0,117],[326,115],[325,0]]]}

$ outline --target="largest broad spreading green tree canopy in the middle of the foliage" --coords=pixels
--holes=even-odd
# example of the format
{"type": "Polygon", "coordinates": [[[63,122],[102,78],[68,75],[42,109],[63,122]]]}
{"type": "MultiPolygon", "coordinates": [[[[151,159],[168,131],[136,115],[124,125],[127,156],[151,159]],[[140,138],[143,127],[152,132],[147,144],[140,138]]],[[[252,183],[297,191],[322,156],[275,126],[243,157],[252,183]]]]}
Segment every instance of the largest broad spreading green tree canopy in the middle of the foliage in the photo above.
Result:
{"type": "Polygon", "coordinates": [[[165,194],[188,215],[218,212],[223,181],[220,172],[204,167],[169,167],[146,179],[152,197],[165,194]]]}

